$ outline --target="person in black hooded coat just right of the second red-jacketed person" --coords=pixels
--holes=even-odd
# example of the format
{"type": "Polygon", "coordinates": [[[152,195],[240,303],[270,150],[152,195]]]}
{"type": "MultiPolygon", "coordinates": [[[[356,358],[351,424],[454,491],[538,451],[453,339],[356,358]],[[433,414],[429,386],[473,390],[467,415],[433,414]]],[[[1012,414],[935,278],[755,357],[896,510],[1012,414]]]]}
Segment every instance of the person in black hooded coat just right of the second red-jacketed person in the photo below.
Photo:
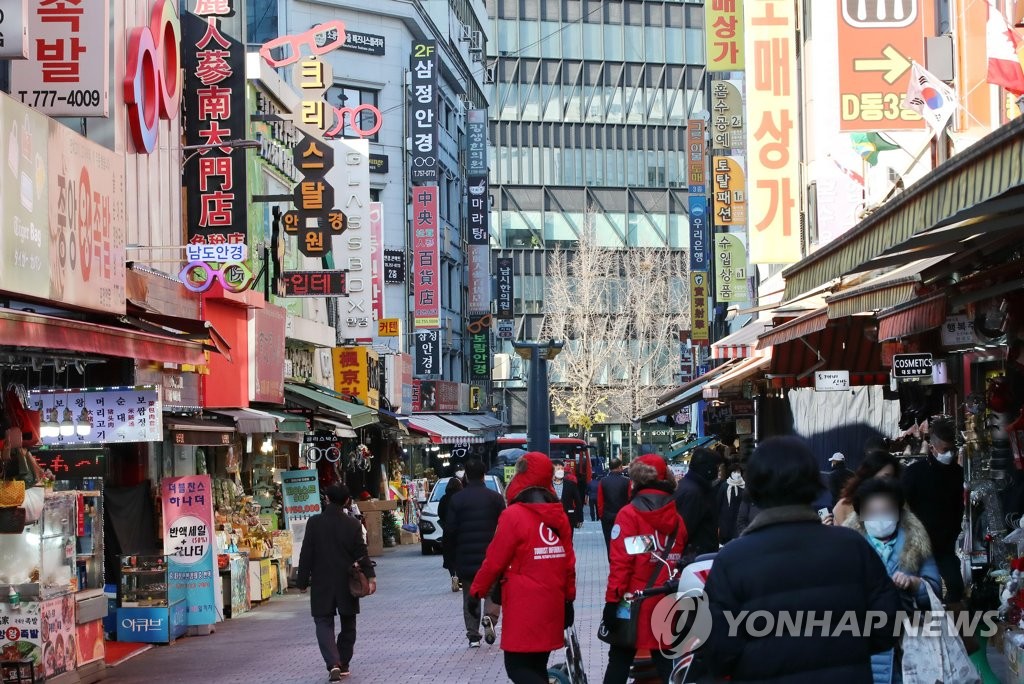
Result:
{"type": "Polygon", "coordinates": [[[676,487],[676,510],[686,524],[683,562],[718,551],[718,510],[712,482],[721,457],[710,448],[693,450],[690,467],[676,487]]]}

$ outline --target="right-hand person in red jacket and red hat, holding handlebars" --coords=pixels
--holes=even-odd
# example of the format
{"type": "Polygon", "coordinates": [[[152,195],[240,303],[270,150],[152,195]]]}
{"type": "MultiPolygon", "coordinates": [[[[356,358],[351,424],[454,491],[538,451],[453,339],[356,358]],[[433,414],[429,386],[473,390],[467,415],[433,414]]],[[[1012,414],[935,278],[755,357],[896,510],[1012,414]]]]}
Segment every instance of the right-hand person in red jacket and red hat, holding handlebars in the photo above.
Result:
{"type": "MultiPolygon", "coordinates": [[[[676,480],[670,477],[665,459],[655,454],[642,456],[630,465],[630,479],[633,481],[633,494],[628,506],[623,507],[615,516],[615,525],[611,528],[611,549],[609,562],[611,570],[608,575],[608,590],[604,600],[604,619],[614,619],[618,602],[628,593],[644,589],[651,584],[657,587],[669,580],[669,570],[650,554],[631,556],[626,552],[626,539],[636,535],[652,535],[657,542],[657,553],[671,564],[679,563],[686,546],[686,525],[676,510],[673,493],[676,480]],[[669,540],[672,548],[666,550],[669,540]]],[[[657,668],[658,675],[665,682],[672,674],[672,660],[662,655],[659,649],[667,644],[660,643],[651,626],[651,616],[657,599],[648,599],[640,604],[640,619],[637,624],[637,643],[635,648],[612,646],[608,652],[608,669],[604,673],[604,684],[626,684],[630,668],[638,648],[648,649],[657,668]]]]}

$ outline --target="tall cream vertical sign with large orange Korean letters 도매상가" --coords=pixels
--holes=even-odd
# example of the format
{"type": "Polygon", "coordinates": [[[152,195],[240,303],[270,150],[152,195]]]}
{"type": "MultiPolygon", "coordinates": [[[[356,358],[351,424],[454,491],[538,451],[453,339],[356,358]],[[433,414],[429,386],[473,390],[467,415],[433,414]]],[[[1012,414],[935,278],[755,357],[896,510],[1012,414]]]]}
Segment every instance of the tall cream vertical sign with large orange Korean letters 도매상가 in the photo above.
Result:
{"type": "Polygon", "coordinates": [[[797,159],[797,18],[792,0],[745,3],[746,52],[757,65],[746,82],[746,182],[752,263],[801,257],[797,159]]]}

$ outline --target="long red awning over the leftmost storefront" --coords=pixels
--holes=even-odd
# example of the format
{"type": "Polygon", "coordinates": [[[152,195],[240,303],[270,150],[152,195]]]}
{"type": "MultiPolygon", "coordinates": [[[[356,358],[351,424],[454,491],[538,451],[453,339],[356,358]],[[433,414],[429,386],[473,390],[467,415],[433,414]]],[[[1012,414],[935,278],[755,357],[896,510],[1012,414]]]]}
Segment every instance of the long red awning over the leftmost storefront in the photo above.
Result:
{"type": "Polygon", "coordinates": [[[0,309],[0,345],[202,366],[203,345],[84,320],[0,309]]]}

